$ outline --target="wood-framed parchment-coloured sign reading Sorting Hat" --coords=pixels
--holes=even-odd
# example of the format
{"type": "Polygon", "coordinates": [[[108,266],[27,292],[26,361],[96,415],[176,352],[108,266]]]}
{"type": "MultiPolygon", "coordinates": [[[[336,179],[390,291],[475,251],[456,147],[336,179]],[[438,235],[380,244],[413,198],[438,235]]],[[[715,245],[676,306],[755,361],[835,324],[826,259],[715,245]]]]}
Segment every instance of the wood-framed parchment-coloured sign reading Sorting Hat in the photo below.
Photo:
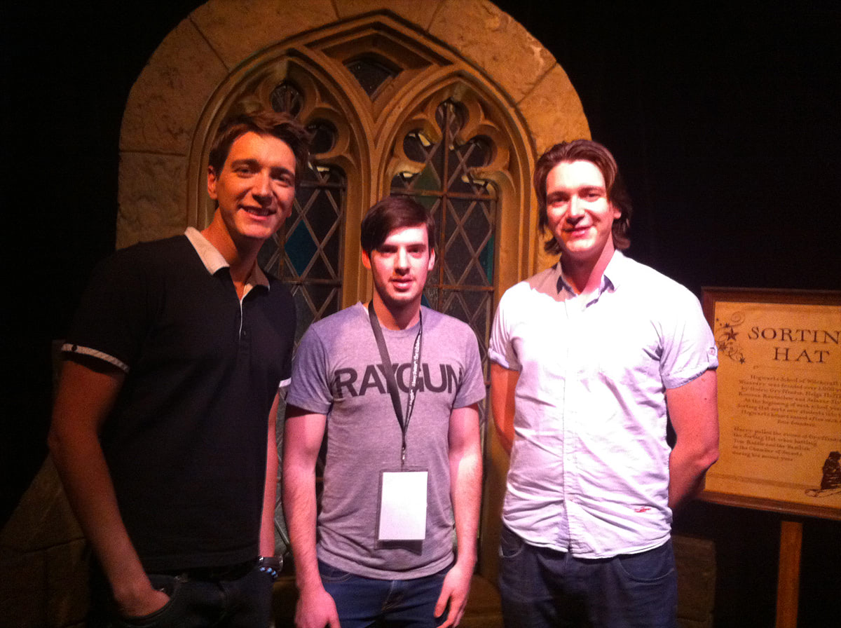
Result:
{"type": "Polygon", "coordinates": [[[703,288],[720,456],[701,499],[841,520],[841,292],[703,288]]]}

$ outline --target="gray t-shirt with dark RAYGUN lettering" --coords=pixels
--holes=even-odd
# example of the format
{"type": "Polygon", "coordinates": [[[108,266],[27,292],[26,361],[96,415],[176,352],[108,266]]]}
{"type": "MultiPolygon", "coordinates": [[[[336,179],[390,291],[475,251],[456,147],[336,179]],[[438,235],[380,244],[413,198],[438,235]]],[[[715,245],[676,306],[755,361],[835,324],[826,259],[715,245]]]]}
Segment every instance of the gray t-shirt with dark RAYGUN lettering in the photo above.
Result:
{"type": "MultiPolygon", "coordinates": [[[[380,475],[400,467],[400,426],[368,310],[357,303],[311,325],[295,357],[287,403],[327,416],[318,557],[366,578],[421,578],[452,562],[447,434],[450,413],[482,401],[479,343],[462,321],[421,311],[421,374],[407,431],[406,467],[429,471],[426,539],[376,540],[380,475]]],[[[418,325],[383,336],[405,413],[418,325]]]]}

